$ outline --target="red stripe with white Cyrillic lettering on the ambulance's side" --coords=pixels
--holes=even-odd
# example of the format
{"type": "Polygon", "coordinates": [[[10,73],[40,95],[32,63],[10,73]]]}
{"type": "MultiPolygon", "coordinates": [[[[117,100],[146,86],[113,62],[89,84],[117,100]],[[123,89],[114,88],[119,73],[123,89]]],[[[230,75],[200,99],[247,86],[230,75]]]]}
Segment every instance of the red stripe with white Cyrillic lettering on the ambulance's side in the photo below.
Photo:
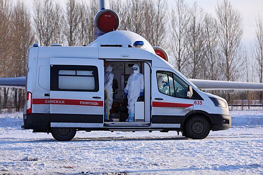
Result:
{"type": "Polygon", "coordinates": [[[65,105],[88,105],[103,106],[104,101],[81,100],[81,99],[47,99],[34,98],[33,104],[65,104],[65,105]]]}

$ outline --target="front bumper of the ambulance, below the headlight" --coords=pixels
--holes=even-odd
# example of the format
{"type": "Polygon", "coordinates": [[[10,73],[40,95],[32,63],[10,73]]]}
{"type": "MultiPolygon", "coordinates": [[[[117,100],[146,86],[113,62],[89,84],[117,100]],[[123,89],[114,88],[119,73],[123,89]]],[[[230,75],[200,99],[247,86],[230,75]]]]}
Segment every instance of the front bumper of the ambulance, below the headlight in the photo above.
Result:
{"type": "Polygon", "coordinates": [[[226,114],[211,114],[214,122],[212,130],[226,130],[231,127],[231,116],[226,114]]]}

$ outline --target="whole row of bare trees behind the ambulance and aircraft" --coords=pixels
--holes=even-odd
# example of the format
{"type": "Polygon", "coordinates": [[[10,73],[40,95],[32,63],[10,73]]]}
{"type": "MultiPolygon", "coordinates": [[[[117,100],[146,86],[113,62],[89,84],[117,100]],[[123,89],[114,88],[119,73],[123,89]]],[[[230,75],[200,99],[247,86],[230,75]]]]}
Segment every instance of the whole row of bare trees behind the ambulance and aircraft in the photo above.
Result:
{"type": "MultiPolygon", "coordinates": [[[[22,0],[0,0],[1,77],[26,75],[27,49],[34,42],[73,46],[94,39],[97,0],[65,0],[65,4],[33,0],[32,8],[22,0]]],[[[134,31],[153,46],[165,48],[169,62],[188,78],[263,80],[262,18],[256,17],[254,42],[246,48],[241,42],[242,15],[230,0],[218,1],[215,15],[186,0],[174,0],[172,7],[167,0],[110,0],[109,8],[120,16],[119,29],[134,31]]],[[[228,99],[262,98],[258,92],[214,93],[228,99]]],[[[0,109],[15,106],[20,110],[24,90],[2,88],[0,98],[0,109]]]]}

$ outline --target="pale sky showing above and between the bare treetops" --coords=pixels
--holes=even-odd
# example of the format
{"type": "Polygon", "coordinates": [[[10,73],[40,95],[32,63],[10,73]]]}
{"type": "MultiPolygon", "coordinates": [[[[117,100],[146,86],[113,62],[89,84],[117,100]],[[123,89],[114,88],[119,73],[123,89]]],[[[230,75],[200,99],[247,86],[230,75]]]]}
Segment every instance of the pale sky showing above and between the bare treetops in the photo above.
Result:
{"type": "MultiPolygon", "coordinates": [[[[29,6],[32,6],[33,0],[25,0],[29,6]]],[[[66,0],[57,0],[61,4],[65,4],[66,0]]],[[[105,0],[106,3],[108,0],[105,0]]],[[[172,7],[175,5],[176,0],[167,0],[168,6],[172,7]]],[[[186,3],[192,5],[194,1],[203,8],[204,11],[215,15],[215,6],[217,2],[221,0],[185,0],[186,3]]],[[[241,12],[243,17],[243,38],[242,41],[246,46],[249,46],[254,40],[255,32],[255,17],[261,15],[263,17],[263,0],[230,0],[234,8],[241,12]]],[[[106,4],[107,5],[107,4],[106,4]]],[[[107,6],[106,6],[107,7],[107,6]]]]}

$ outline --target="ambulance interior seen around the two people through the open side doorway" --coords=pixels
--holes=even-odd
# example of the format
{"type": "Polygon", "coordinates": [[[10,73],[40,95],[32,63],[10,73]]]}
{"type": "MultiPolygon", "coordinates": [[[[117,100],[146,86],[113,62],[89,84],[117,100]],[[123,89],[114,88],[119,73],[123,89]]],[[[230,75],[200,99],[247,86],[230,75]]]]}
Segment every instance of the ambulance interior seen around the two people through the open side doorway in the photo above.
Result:
{"type": "Polygon", "coordinates": [[[137,101],[135,102],[135,120],[133,123],[143,124],[150,121],[150,118],[145,117],[150,116],[150,111],[147,111],[150,109],[150,63],[138,60],[104,60],[104,66],[111,65],[112,73],[114,74],[112,84],[113,103],[112,108],[110,109],[110,114],[107,114],[108,119],[111,118],[112,121],[106,120],[104,123],[128,123],[126,122],[126,119],[128,118],[128,98],[127,96],[124,96],[124,88],[127,84],[129,76],[133,73],[132,66],[134,64],[139,65],[140,73],[144,75],[144,93],[143,96],[138,97],[137,101]],[[149,107],[146,107],[146,105],[149,107]]]}

